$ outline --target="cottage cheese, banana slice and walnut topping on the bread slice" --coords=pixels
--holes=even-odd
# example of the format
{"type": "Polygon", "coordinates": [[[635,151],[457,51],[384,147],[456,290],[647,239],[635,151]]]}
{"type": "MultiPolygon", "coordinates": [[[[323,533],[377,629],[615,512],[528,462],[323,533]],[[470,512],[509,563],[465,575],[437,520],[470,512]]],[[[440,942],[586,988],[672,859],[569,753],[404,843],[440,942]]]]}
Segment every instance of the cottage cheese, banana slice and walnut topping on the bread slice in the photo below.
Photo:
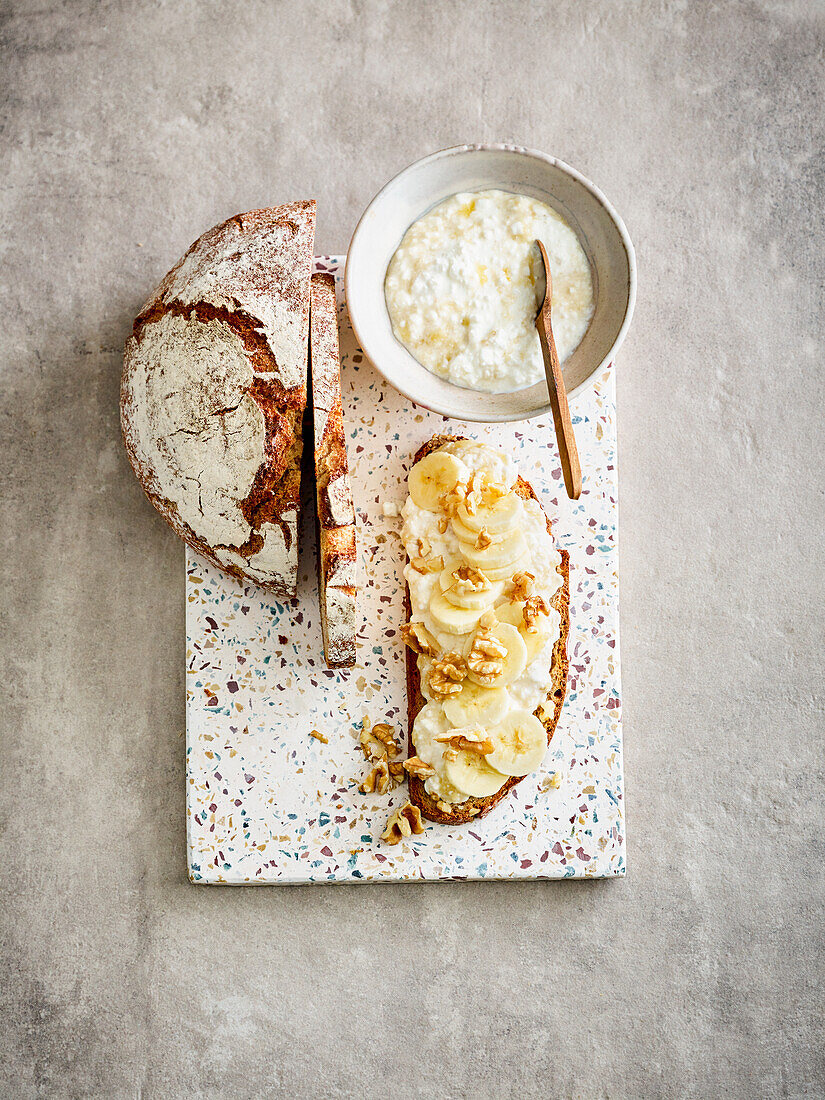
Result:
{"type": "Polygon", "coordinates": [[[547,749],[532,712],[551,685],[560,616],[550,602],[563,583],[561,556],[538,502],[512,492],[516,479],[504,452],[450,442],[413,468],[402,510],[407,636],[428,701],[413,743],[432,770],[426,790],[444,803],[494,793],[509,776],[535,770],[547,749]],[[498,654],[486,672],[485,638],[498,654]]]}

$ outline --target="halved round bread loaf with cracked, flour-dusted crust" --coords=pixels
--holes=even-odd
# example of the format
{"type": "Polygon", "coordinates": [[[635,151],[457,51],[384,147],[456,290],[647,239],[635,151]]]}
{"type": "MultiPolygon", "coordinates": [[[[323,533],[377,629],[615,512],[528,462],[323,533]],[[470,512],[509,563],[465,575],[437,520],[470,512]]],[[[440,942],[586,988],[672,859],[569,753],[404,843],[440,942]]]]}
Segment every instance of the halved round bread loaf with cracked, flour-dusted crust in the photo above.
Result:
{"type": "Polygon", "coordinates": [[[166,275],[127,342],[121,426],[150,501],[199,553],[296,593],[315,201],[238,215],[166,275]]]}

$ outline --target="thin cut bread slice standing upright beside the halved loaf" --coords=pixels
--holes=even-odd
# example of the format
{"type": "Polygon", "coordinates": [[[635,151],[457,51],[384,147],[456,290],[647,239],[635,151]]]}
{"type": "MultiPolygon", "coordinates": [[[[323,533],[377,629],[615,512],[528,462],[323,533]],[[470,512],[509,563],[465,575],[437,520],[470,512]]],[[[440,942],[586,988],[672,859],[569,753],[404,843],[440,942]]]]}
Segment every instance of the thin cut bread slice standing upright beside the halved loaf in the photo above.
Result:
{"type": "Polygon", "coordinates": [[[318,591],[323,652],[330,668],[355,663],[355,509],[341,409],[336,280],[310,283],[310,380],[315,435],[318,591]]]}

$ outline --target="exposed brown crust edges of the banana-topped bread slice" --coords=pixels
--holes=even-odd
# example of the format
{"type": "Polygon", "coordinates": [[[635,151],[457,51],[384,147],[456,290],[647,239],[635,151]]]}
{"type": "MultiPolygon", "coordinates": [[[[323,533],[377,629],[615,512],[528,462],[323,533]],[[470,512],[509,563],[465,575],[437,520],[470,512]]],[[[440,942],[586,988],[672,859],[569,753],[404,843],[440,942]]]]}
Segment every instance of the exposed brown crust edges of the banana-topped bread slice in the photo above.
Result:
{"type": "MultiPolygon", "coordinates": [[[[427,454],[430,454],[432,451],[437,451],[439,447],[443,447],[444,443],[450,443],[463,438],[463,436],[433,436],[433,438],[429,440],[429,442],[425,443],[418,451],[413,460],[413,464],[415,465],[416,462],[420,462],[420,460],[427,454]]],[[[518,495],[525,501],[530,498],[538,501],[532,486],[529,482],[526,482],[524,477],[519,477],[516,482],[515,492],[518,493],[518,495]]],[[[552,536],[549,519],[547,519],[547,529],[552,536]]],[[[562,576],[563,583],[550,602],[559,612],[561,626],[559,630],[559,638],[553,646],[553,656],[550,666],[550,689],[546,700],[540,703],[534,712],[536,717],[542,723],[544,729],[547,730],[548,746],[552,740],[553,733],[556,732],[556,727],[561,715],[561,708],[564,704],[569,669],[568,635],[570,632],[570,556],[566,550],[562,549],[559,549],[559,553],[561,554],[561,563],[558,566],[558,572],[562,576]]],[[[409,620],[410,615],[411,606],[409,602],[409,590],[407,590],[407,620],[409,620]]],[[[416,715],[425,706],[426,700],[421,694],[421,680],[418,673],[418,658],[411,649],[407,649],[406,651],[406,664],[409,756],[415,756],[416,748],[413,743],[413,725],[416,721],[416,715]]],[[[458,803],[453,807],[452,813],[448,814],[440,810],[432,795],[427,793],[424,785],[425,781],[418,776],[410,776],[409,800],[414,806],[419,807],[425,817],[428,817],[432,822],[440,822],[444,825],[461,825],[466,822],[474,821],[476,817],[483,817],[484,814],[490,813],[493,806],[497,805],[502,799],[504,799],[505,795],[513,790],[516,783],[520,783],[522,779],[527,779],[527,777],[513,776],[507,780],[501,790],[495,792],[495,794],[490,794],[483,799],[468,799],[465,802],[458,803]]]]}

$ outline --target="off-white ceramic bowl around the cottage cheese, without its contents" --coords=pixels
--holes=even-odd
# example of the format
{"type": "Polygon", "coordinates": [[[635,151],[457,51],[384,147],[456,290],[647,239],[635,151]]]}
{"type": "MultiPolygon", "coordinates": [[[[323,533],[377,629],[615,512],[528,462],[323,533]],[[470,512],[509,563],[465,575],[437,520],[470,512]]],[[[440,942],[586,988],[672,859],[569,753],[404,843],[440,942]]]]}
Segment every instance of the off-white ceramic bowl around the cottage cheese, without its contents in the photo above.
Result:
{"type": "Polygon", "coordinates": [[[616,354],[636,301],[636,255],[625,223],[598,188],[556,157],[518,145],[457,145],[416,161],[375,196],[346,256],[346,305],[361,348],[392,385],[418,405],[460,420],[524,420],[550,411],[542,381],[508,394],[454,386],[396,340],[384,299],[387,264],[422,213],[457,191],[501,188],[558,210],[579,234],[593,270],[595,311],[564,363],[571,399],[616,354]]]}

